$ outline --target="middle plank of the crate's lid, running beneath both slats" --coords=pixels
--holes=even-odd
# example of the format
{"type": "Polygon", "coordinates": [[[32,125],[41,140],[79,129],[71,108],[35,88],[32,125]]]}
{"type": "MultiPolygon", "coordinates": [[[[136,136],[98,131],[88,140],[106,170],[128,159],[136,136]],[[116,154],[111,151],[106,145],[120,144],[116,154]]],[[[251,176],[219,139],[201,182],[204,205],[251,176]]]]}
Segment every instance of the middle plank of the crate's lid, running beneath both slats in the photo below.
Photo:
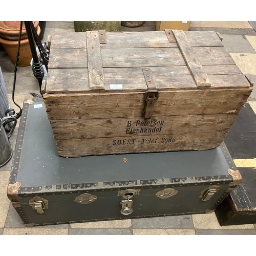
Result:
{"type": "MultiPolygon", "coordinates": [[[[194,51],[203,66],[236,64],[223,47],[198,47],[194,51]]],[[[178,48],[101,49],[101,56],[104,68],[186,66],[178,48]]],[[[86,48],[52,49],[49,69],[87,68],[86,58],[86,48]]]]}

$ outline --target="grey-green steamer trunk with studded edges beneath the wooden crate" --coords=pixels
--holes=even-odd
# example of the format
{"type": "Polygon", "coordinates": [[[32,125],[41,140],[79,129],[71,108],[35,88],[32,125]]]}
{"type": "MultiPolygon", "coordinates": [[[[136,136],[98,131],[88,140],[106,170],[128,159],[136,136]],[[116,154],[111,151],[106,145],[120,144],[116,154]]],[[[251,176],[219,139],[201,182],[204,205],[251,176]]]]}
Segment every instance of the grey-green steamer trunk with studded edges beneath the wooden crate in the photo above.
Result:
{"type": "Polygon", "coordinates": [[[224,143],[200,152],[60,157],[41,100],[24,104],[7,190],[27,227],[209,213],[241,183],[224,143]]]}

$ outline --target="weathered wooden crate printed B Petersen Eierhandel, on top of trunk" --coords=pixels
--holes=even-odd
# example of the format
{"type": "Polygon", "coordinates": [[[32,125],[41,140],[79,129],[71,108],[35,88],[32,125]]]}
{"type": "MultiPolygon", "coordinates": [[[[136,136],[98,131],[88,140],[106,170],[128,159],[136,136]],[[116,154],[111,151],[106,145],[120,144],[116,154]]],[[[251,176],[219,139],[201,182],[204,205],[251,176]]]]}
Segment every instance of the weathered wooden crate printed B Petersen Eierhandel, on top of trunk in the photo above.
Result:
{"type": "Polygon", "coordinates": [[[211,31],[58,33],[48,71],[64,157],[215,148],[252,90],[211,31]]]}

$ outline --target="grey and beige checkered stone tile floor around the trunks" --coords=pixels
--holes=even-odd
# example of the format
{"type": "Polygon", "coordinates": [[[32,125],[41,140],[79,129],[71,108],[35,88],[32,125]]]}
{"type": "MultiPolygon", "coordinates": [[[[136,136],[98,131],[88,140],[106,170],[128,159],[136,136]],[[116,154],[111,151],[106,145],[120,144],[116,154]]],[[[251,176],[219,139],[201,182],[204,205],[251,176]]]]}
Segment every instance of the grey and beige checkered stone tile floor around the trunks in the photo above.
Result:
{"type": "MultiPolygon", "coordinates": [[[[245,75],[256,78],[256,32],[248,22],[192,22],[191,30],[222,31],[223,44],[245,75]]],[[[124,31],[152,31],[155,22],[146,22],[142,27],[127,28],[124,31]]],[[[45,38],[53,32],[72,32],[73,22],[47,22],[45,38]]],[[[10,103],[13,83],[13,65],[5,51],[0,51],[0,67],[4,75],[10,103]]],[[[256,79],[255,79],[256,80],[256,79]]],[[[19,67],[17,72],[15,100],[22,105],[29,92],[38,93],[37,80],[31,67],[19,67]]],[[[249,98],[256,113],[256,92],[249,98]]],[[[14,148],[17,128],[11,137],[14,148]]],[[[0,168],[0,234],[256,234],[256,224],[220,226],[215,213],[205,215],[187,215],[174,217],[156,217],[136,220],[116,220],[80,224],[54,225],[26,228],[19,219],[6,196],[11,161],[0,168]]],[[[232,250],[232,249],[230,249],[232,250]]]]}

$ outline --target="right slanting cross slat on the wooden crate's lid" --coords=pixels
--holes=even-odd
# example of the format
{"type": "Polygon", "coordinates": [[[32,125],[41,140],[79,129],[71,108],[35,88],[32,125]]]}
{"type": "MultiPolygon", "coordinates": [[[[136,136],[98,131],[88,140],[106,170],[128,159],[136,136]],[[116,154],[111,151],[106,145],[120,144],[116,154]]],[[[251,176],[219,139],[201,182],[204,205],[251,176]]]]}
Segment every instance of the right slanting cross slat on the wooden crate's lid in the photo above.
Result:
{"type": "Polygon", "coordinates": [[[177,44],[199,89],[210,87],[208,76],[182,30],[173,30],[177,44]]]}

